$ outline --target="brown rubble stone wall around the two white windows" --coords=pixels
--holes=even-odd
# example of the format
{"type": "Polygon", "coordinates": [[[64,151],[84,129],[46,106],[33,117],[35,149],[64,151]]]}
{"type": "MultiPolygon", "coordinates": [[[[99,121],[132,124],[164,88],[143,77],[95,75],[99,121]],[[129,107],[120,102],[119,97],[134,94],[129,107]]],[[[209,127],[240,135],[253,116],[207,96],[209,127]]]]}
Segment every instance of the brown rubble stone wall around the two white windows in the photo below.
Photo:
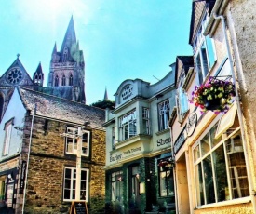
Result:
{"type": "MultiPolygon", "coordinates": [[[[28,145],[31,117],[26,118],[28,145]]],[[[68,213],[71,203],[62,201],[64,167],[76,167],[75,155],[64,154],[66,124],[34,117],[31,155],[25,213],[68,213]]],[[[89,168],[89,213],[102,213],[104,209],[105,132],[91,129],[91,157],[82,158],[82,167],[89,168]]],[[[24,151],[27,151],[24,148],[24,151]]],[[[25,157],[26,155],[23,155],[25,157]]],[[[22,195],[21,195],[22,196],[22,195]]],[[[19,213],[19,212],[18,212],[19,213]]]]}

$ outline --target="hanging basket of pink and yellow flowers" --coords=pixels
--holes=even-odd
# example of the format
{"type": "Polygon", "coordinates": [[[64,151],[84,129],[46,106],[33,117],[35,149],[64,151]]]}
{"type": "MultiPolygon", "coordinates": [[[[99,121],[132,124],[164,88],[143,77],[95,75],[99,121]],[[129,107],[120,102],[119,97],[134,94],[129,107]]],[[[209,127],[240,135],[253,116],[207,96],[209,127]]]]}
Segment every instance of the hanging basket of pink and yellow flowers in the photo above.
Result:
{"type": "Polygon", "coordinates": [[[235,87],[230,80],[209,77],[206,84],[195,87],[192,92],[192,102],[195,106],[214,113],[227,112],[232,98],[235,97],[235,87]]]}

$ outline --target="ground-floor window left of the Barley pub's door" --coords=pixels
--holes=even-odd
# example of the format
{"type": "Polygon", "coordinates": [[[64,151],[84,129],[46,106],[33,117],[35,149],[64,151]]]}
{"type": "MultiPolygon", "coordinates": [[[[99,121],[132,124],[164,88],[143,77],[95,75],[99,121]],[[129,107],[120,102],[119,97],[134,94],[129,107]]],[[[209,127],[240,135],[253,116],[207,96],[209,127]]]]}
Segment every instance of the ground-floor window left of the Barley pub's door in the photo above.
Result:
{"type": "Polygon", "coordinates": [[[121,202],[123,195],[123,172],[116,171],[111,174],[112,201],[121,202]]]}

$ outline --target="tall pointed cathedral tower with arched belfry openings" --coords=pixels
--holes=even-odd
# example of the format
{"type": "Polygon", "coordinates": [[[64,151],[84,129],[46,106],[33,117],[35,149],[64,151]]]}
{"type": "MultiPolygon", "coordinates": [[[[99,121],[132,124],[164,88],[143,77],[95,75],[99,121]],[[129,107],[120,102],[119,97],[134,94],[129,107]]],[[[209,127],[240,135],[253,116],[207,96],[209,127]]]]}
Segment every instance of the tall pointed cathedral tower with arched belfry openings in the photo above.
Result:
{"type": "Polygon", "coordinates": [[[83,51],[76,41],[73,16],[69,22],[60,52],[53,47],[47,93],[55,96],[86,103],[85,62],[83,51]]]}

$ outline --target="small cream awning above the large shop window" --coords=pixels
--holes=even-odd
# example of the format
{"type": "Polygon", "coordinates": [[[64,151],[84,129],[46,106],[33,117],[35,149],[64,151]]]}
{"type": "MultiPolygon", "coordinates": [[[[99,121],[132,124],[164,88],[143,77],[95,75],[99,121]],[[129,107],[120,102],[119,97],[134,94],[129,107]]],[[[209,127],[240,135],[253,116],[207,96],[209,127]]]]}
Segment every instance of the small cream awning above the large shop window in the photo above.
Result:
{"type": "Polygon", "coordinates": [[[215,139],[218,139],[228,128],[232,127],[235,121],[236,111],[237,106],[236,102],[234,102],[229,111],[222,116],[215,134],[215,139]]]}

